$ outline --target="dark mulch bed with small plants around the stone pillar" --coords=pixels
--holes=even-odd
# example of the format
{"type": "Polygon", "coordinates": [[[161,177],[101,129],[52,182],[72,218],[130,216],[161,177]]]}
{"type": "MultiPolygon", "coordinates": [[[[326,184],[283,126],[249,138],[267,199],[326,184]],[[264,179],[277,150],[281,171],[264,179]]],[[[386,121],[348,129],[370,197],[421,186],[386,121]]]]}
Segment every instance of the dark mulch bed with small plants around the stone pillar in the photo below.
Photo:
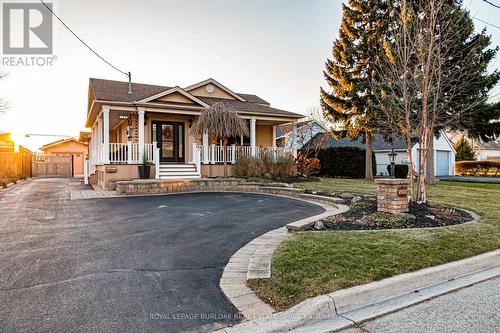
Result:
{"type": "Polygon", "coordinates": [[[350,210],[330,216],[309,230],[379,230],[432,228],[461,224],[472,220],[469,213],[437,204],[410,203],[409,214],[393,215],[377,212],[377,198],[371,195],[337,193],[350,210]]]}

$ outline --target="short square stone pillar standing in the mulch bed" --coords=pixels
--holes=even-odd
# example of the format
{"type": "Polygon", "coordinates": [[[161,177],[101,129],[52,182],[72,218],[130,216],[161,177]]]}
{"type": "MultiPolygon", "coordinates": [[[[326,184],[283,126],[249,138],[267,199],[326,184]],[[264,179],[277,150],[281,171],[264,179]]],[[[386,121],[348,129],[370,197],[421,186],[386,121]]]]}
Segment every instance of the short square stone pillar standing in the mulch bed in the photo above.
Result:
{"type": "Polygon", "coordinates": [[[387,213],[408,212],[408,180],[376,179],[377,210],[387,213]]]}

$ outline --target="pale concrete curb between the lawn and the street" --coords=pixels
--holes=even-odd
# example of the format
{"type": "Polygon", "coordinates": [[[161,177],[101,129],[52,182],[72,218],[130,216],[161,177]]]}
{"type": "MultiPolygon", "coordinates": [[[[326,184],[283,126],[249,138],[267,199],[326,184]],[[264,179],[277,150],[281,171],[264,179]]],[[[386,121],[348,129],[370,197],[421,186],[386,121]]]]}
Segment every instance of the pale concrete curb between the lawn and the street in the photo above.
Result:
{"type": "Polygon", "coordinates": [[[312,320],[332,318],[340,313],[369,307],[418,289],[453,281],[461,276],[498,265],[500,265],[500,250],[313,297],[289,310],[272,315],[256,316],[254,320],[218,332],[289,331],[312,320]]]}

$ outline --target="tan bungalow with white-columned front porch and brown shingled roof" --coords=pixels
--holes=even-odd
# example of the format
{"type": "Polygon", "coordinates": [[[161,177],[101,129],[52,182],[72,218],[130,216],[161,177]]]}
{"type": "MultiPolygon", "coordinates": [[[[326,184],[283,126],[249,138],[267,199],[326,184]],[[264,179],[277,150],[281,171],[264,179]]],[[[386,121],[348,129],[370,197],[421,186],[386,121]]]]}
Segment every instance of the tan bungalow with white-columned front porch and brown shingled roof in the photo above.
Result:
{"type": "Polygon", "coordinates": [[[138,165],[152,164],[150,178],[189,179],[223,175],[232,164],[263,151],[290,153],[275,145],[276,127],[303,115],[271,107],[252,95],[236,93],[214,79],[167,87],[91,78],[86,127],[91,128],[86,180],[107,187],[111,180],[139,178],[138,165]],[[193,135],[201,111],[225,102],[248,124],[248,137],[231,138],[224,154],[220,138],[193,135]]]}

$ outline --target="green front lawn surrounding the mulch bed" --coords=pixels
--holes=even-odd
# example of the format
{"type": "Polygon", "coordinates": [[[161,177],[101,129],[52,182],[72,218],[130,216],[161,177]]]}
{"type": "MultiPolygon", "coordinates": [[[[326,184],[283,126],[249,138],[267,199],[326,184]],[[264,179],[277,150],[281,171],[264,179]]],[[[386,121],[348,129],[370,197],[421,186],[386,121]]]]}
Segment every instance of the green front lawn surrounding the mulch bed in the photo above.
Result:
{"type": "MultiPolygon", "coordinates": [[[[375,193],[364,180],[323,179],[299,187],[328,193],[375,193]]],[[[277,310],[306,298],[500,248],[500,184],[442,182],[430,201],[462,207],[481,222],[426,230],[302,232],[273,258],[272,278],[248,281],[277,310]]]]}

